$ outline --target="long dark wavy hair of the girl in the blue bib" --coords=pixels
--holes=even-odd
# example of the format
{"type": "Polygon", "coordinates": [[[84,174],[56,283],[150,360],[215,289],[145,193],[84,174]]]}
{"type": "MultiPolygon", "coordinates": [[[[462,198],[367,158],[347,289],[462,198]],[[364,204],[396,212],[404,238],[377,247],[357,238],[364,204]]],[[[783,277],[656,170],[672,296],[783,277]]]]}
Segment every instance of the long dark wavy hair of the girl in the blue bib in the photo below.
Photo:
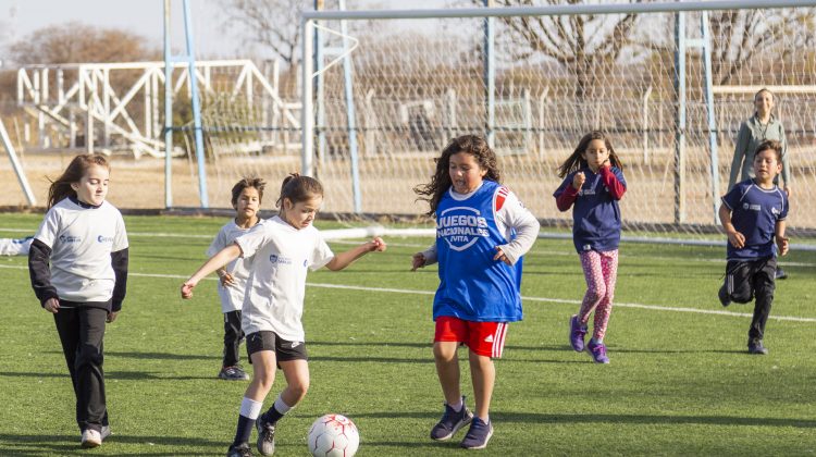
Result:
{"type": "Polygon", "coordinates": [[[436,212],[436,207],[442,200],[442,196],[450,188],[453,183],[450,182],[450,156],[459,152],[467,152],[477,160],[479,168],[486,170],[487,173],[484,175],[484,180],[500,182],[500,172],[498,170],[498,161],[496,160],[496,153],[487,145],[487,141],[481,136],[477,135],[462,135],[458,138],[454,138],[447,144],[445,149],[442,150],[442,156],[434,159],[436,162],[436,171],[431,176],[431,182],[428,184],[420,184],[413,188],[413,192],[420,197],[417,200],[428,201],[431,206],[431,210],[425,214],[433,215],[436,212]]]}

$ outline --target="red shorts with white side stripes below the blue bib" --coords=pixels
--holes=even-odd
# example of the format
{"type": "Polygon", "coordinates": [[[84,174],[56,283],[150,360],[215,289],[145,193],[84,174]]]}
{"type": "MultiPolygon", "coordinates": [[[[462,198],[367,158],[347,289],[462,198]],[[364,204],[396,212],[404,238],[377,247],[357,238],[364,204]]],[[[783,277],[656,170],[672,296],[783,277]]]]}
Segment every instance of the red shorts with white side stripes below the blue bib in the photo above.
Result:
{"type": "Polygon", "coordinates": [[[442,316],[436,318],[433,342],[458,342],[480,356],[500,358],[506,333],[506,322],[473,322],[442,316]]]}

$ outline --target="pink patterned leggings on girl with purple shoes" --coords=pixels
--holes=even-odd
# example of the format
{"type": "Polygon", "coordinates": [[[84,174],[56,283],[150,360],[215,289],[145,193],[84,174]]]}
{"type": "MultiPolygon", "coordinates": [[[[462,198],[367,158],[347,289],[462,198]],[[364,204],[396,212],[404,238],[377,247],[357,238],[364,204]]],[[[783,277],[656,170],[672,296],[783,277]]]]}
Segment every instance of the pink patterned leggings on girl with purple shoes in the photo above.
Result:
{"type": "Polygon", "coordinates": [[[583,296],[578,318],[582,324],[590,321],[590,314],[595,311],[595,328],[592,337],[604,339],[606,324],[611,313],[613,297],[615,296],[615,280],[618,276],[618,249],[598,252],[588,250],[581,252],[581,267],[586,279],[586,295],[583,296]]]}

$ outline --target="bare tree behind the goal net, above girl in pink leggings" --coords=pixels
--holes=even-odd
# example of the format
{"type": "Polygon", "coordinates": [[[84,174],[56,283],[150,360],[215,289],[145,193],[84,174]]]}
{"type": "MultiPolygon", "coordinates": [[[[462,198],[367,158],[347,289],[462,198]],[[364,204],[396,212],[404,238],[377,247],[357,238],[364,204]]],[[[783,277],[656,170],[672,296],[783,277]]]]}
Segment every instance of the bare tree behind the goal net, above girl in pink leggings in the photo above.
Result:
{"type": "MultiPolygon", "coordinates": [[[[472,0],[483,4],[483,0],[472,0]]],[[[532,0],[496,0],[497,7],[532,5],[532,0]]],[[[579,4],[582,0],[547,0],[548,4],[579,4]]],[[[584,99],[596,85],[596,71],[615,62],[630,45],[636,15],[581,14],[502,17],[516,59],[545,55],[576,77],[574,96],[584,99]]]]}

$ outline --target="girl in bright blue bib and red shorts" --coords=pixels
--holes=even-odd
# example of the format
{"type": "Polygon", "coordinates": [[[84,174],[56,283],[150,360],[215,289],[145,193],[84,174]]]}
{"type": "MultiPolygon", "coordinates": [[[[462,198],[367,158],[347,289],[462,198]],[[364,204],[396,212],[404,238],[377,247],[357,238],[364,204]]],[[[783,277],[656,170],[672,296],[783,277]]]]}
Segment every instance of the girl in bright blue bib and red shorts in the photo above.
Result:
{"type": "Polygon", "coordinates": [[[415,192],[436,218],[436,244],[412,259],[413,270],[440,263],[433,355],[445,413],[431,439],[449,440],[470,423],[461,446],[480,449],[493,435],[493,358],[502,357],[507,323],[522,318],[521,256],[535,242],[539,221],[499,184],[496,155],[484,138],[455,138],[435,161],[431,182],[415,192]],[[460,344],[469,348],[475,416],[459,386],[460,344]]]}

